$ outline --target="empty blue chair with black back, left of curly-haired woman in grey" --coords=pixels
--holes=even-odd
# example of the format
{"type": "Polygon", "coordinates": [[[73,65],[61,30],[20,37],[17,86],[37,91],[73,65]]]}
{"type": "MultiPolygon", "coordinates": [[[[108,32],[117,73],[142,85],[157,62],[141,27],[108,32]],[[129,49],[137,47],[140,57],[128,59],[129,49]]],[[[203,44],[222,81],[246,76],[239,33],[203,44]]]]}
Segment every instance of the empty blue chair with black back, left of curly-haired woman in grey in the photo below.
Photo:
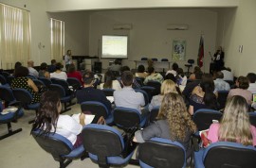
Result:
{"type": "Polygon", "coordinates": [[[100,167],[124,166],[131,160],[136,143],[122,137],[111,126],[86,125],[82,129],[82,143],[90,159],[100,167]]]}

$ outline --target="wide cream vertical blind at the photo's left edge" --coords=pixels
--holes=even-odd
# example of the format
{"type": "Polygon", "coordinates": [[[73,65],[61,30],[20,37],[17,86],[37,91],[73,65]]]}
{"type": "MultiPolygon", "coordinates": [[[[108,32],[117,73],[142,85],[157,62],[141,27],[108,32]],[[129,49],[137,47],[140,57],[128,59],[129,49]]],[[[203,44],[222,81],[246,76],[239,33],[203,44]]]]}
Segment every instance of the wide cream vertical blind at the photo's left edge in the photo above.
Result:
{"type": "Polygon", "coordinates": [[[0,3],[0,68],[13,69],[16,61],[26,65],[30,45],[29,11],[0,3]]]}

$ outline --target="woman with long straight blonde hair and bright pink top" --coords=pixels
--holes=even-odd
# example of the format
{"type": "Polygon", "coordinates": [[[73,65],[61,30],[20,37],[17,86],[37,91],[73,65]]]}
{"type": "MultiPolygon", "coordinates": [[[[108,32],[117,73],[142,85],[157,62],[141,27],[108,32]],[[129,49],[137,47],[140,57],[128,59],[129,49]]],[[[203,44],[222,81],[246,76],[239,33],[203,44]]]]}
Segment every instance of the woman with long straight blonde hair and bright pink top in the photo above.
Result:
{"type": "Polygon", "coordinates": [[[234,142],[256,145],[256,128],[249,123],[247,100],[234,95],[227,101],[220,124],[211,124],[208,139],[210,143],[234,142]]]}

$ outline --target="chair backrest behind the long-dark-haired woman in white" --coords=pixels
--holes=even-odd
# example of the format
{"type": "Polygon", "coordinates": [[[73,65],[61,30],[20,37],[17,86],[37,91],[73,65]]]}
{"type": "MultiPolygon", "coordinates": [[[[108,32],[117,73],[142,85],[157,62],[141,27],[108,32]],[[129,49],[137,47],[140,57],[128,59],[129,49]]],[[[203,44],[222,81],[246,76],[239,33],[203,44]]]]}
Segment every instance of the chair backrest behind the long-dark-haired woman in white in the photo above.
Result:
{"type": "Polygon", "coordinates": [[[72,143],[57,133],[49,133],[46,136],[36,130],[32,131],[32,136],[46,152],[52,155],[54,160],[61,160],[62,156],[69,154],[73,149],[72,143]]]}

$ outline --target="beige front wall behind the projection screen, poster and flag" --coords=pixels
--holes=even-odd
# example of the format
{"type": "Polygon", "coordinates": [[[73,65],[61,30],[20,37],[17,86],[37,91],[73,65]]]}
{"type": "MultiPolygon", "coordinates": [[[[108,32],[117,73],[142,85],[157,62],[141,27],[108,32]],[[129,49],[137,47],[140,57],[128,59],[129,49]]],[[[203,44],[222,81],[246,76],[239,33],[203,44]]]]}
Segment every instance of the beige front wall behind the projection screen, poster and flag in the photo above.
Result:
{"type": "MultiPolygon", "coordinates": [[[[215,50],[217,13],[207,9],[139,9],[95,11],[90,15],[90,56],[98,56],[102,34],[128,34],[130,37],[129,59],[123,64],[135,68],[134,60],[168,58],[171,60],[173,40],[186,40],[186,61],[177,63],[184,68],[187,59],[197,59],[201,33],[205,40],[205,66],[209,72],[209,51],[215,50]],[[115,24],[132,24],[131,30],[113,30],[115,24]],[[189,30],[167,30],[169,24],[187,24],[189,30]]],[[[103,68],[109,59],[102,59],[103,68]]],[[[186,70],[186,69],[184,69],[186,70]]]]}

